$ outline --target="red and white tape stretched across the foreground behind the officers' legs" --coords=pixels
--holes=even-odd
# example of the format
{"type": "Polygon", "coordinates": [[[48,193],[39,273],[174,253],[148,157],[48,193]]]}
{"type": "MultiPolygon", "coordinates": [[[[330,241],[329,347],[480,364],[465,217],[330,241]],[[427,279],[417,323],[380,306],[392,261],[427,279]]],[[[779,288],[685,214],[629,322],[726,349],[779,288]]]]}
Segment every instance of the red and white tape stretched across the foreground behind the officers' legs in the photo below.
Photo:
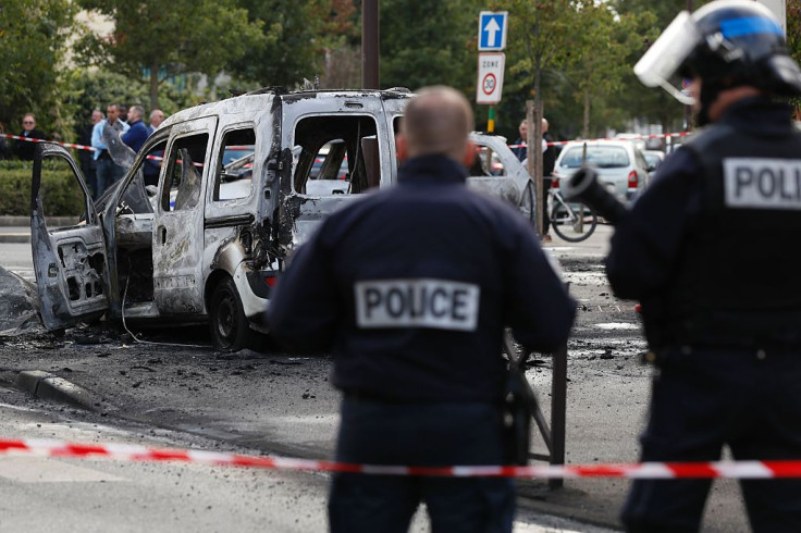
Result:
{"type": "Polygon", "coordinates": [[[81,444],[54,439],[0,439],[0,456],[183,462],[308,472],[346,472],[436,478],[628,478],[628,479],[776,479],[801,478],[801,460],[642,462],[552,466],[405,467],[260,457],[195,449],[151,448],[131,444],[81,444]]]}

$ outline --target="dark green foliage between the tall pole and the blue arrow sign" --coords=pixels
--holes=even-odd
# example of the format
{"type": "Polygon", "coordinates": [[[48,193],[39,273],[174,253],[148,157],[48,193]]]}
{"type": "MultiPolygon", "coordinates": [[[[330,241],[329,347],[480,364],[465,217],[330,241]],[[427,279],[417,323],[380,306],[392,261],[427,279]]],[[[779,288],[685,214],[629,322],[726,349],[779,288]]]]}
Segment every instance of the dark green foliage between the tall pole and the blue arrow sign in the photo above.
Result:
{"type": "Polygon", "coordinates": [[[473,92],[479,11],[475,0],[383,0],[381,86],[473,92]]]}

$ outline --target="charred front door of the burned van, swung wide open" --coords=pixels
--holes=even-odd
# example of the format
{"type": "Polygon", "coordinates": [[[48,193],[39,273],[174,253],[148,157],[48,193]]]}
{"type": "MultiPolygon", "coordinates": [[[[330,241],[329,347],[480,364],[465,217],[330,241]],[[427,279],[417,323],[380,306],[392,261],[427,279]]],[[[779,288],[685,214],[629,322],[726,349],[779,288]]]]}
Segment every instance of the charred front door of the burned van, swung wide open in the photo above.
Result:
{"type": "Polygon", "coordinates": [[[65,148],[37,146],[30,188],[30,246],[45,327],[99,318],[108,308],[106,241],[89,190],[65,148]],[[64,195],[72,201],[60,201],[64,195]],[[83,209],[84,220],[65,211],[69,206],[83,209]],[[46,216],[64,215],[67,225],[48,227],[46,216]]]}

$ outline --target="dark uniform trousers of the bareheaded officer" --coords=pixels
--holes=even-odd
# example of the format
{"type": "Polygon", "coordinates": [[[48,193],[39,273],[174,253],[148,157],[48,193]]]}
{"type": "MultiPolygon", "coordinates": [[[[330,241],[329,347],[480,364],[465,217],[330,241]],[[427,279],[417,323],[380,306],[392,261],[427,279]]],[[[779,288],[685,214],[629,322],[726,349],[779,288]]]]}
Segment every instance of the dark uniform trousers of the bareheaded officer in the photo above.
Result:
{"type": "MultiPolygon", "coordinates": [[[[501,407],[481,402],[392,402],[346,395],[336,460],[367,464],[502,464],[501,407]]],[[[515,485],[498,478],[336,473],[332,533],[408,531],[424,501],[438,532],[509,533],[515,485]]]]}

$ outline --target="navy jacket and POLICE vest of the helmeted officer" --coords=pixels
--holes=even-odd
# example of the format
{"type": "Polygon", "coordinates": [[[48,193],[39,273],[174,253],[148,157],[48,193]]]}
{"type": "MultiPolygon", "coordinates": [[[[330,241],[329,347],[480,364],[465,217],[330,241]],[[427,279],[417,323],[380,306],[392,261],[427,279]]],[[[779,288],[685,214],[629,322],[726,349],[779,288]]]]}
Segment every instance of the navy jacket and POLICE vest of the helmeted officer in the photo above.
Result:
{"type": "Polygon", "coordinates": [[[801,347],[801,133],[736,102],[670,156],[618,224],[606,270],[652,349],[801,347]]]}

